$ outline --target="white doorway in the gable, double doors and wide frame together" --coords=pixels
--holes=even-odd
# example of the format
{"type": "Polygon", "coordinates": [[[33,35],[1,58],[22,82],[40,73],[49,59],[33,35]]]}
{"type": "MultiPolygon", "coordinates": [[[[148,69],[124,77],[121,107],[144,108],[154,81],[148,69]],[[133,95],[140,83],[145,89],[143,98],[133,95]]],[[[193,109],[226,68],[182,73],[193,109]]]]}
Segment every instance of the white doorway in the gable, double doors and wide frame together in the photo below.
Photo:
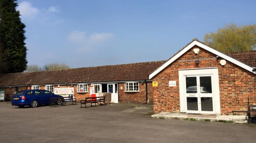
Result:
{"type": "Polygon", "coordinates": [[[179,70],[181,112],[220,113],[218,69],[179,70]]]}

